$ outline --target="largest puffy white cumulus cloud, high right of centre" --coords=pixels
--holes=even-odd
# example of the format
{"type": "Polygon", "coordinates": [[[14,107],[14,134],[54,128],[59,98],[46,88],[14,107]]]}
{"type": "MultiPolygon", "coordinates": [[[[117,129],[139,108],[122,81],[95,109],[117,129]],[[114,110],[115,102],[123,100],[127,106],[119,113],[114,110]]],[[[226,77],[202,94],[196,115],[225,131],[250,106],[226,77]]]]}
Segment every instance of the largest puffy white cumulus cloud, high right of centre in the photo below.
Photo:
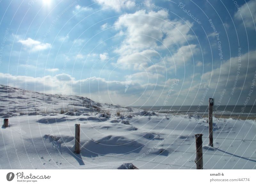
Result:
{"type": "MultiPolygon", "coordinates": [[[[195,44],[187,45],[188,41],[194,39],[189,33],[193,25],[189,21],[170,20],[168,17],[168,12],[163,10],[140,10],[120,16],[114,26],[126,35],[123,44],[115,50],[120,57],[112,64],[136,70],[138,65],[140,70],[154,70],[154,66],[157,66],[159,72],[164,72],[165,64],[159,60],[164,58],[161,53],[169,48],[175,53],[175,62],[184,63],[183,58],[187,62],[192,52],[196,54],[197,51],[195,44]],[[183,53],[178,52],[181,50],[183,53]]],[[[165,58],[171,61],[171,56],[165,58]]]]}

